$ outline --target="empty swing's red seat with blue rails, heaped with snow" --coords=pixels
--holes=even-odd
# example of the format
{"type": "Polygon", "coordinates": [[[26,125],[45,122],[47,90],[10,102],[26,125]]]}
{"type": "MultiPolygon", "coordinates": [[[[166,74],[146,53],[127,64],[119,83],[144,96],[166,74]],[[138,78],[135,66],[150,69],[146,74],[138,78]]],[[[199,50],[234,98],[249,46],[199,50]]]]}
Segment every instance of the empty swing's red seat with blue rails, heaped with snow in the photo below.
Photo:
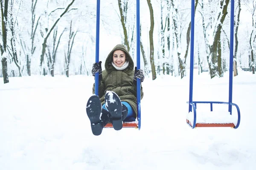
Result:
{"type": "Polygon", "coordinates": [[[238,128],[240,124],[240,110],[238,105],[229,102],[191,102],[190,105],[193,107],[194,114],[189,112],[187,115],[186,122],[193,128],[196,127],[231,127],[238,128]],[[197,112],[197,103],[208,103],[210,104],[210,112],[197,112]],[[230,112],[223,111],[212,111],[212,104],[227,104],[236,106],[238,118],[234,117],[230,112]]]}

